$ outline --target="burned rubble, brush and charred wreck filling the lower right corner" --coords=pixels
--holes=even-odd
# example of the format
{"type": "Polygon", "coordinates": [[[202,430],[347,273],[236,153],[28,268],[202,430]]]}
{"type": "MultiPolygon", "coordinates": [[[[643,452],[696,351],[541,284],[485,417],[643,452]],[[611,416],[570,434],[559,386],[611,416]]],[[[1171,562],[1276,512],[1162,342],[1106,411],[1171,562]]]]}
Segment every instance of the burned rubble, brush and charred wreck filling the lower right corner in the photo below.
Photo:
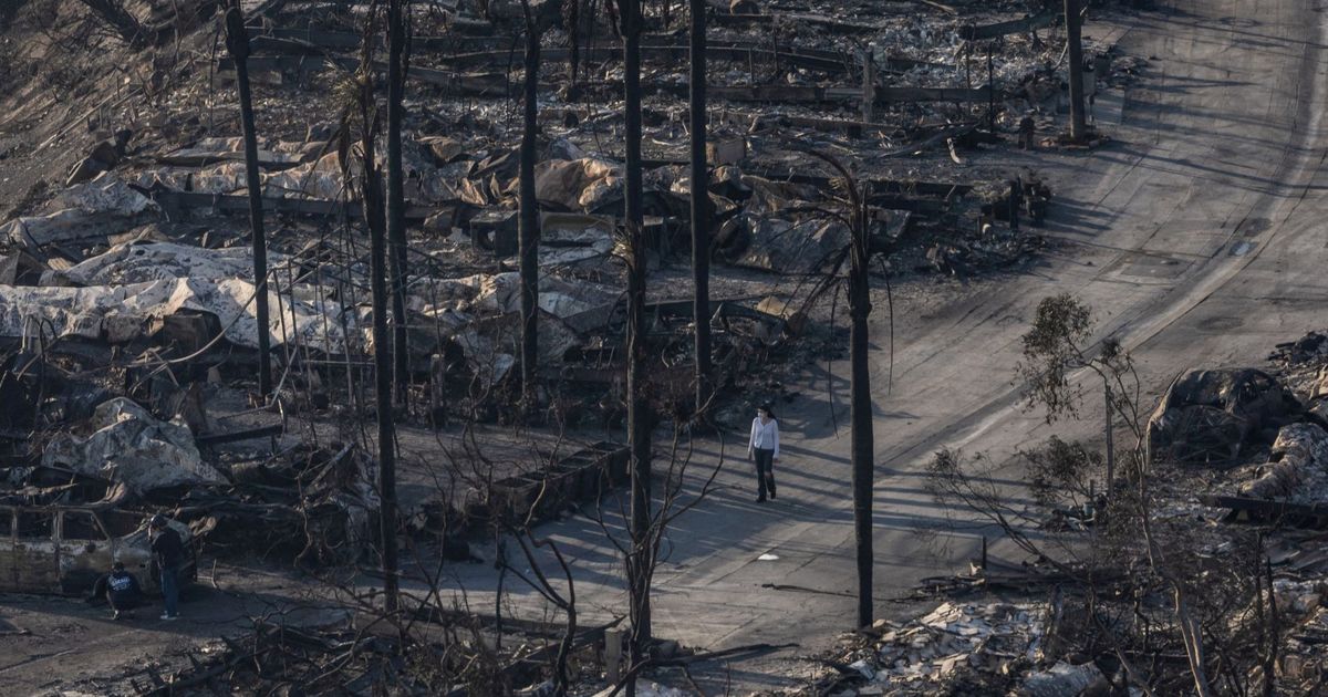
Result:
{"type": "Polygon", "coordinates": [[[1025,457],[1031,487],[1061,494],[1020,510],[976,479],[992,471],[980,458],[938,454],[938,499],[991,516],[1027,559],[988,556],[984,538],[968,574],[918,588],[915,599],[940,597],[939,607],[878,620],[821,656],[817,693],[1181,694],[1212,665],[1223,694],[1321,692],[1323,336],[1279,345],[1263,369],[1178,376],[1134,431],[1151,471],[1112,490],[1090,479],[1101,458],[1053,442],[1025,457]],[[1202,627],[1202,640],[1190,627],[1202,627]],[[1207,652],[1199,668],[1194,651],[1207,652]]]}

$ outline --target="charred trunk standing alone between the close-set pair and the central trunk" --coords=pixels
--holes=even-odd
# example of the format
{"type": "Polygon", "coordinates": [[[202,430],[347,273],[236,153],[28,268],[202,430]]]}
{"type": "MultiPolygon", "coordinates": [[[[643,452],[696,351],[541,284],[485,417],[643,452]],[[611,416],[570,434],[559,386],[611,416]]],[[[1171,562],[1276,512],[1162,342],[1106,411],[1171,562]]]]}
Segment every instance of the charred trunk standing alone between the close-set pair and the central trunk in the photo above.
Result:
{"type": "Polygon", "coordinates": [[[539,204],[535,200],[535,134],[539,130],[539,27],[530,1],[526,13],[525,123],[521,135],[518,244],[521,277],[521,406],[537,405],[539,361],[539,204]]]}

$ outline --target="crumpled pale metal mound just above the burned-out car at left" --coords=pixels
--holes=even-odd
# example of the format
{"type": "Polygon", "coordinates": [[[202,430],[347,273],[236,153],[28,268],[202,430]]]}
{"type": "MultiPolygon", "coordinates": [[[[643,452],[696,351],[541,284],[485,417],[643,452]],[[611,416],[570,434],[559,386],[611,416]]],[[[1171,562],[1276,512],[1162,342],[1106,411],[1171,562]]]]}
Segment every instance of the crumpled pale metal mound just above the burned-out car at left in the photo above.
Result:
{"type": "Polygon", "coordinates": [[[135,493],[226,482],[202,461],[183,422],[159,421],[124,397],[102,402],[85,425],[52,438],[41,465],[121,483],[135,493]]]}

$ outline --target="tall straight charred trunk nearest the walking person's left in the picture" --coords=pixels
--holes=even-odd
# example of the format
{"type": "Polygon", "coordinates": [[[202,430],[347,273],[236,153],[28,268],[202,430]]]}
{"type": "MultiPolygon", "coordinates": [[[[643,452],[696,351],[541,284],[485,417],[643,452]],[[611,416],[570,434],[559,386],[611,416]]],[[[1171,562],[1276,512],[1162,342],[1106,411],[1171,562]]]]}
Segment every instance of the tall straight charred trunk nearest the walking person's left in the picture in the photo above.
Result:
{"type": "Polygon", "coordinates": [[[705,162],[705,0],[692,0],[692,283],[696,295],[696,413],[713,392],[710,365],[710,173],[705,162]]]}

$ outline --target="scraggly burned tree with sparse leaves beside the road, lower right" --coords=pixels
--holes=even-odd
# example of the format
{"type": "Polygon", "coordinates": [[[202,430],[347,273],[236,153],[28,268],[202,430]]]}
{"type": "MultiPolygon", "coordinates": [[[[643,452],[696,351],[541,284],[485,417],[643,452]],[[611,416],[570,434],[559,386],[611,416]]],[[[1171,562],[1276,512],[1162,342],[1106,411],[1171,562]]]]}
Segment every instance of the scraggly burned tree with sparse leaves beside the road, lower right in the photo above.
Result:
{"type": "Polygon", "coordinates": [[[1019,502],[1017,487],[1000,483],[1011,463],[948,449],[932,461],[928,487],[940,503],[1000,527],[1050,570],[1041,574],[1056,579],[1064,591],[1057,603],[1066,608],[1052,628],[1057,651],[1100,661],[1106,656],[1147,694],[1271,689],[1268,661],[1283,632],[1260,534],[1228,535],[1230,548],[1216,563],[1203,552],[1193,524],[1155,512],[1158,486],[1169,473],[1151,462],[1133,362],[1112,341],[1089,353],[1090,333],[1089,309],[1077,299],[1044,300],[1024,337],[1019,374],[1029,404],[1044,406],[1049,422],[1077,414],[1081,374],[1102,380],[1104,408],[1122,417],[1133,435],[1121,481],[1110,489],[1114,495],[1093,485],[1110,461],[1088,445],[1056,437],[1016,458],[1028,467],[1036,507],[1019,502]]]}

